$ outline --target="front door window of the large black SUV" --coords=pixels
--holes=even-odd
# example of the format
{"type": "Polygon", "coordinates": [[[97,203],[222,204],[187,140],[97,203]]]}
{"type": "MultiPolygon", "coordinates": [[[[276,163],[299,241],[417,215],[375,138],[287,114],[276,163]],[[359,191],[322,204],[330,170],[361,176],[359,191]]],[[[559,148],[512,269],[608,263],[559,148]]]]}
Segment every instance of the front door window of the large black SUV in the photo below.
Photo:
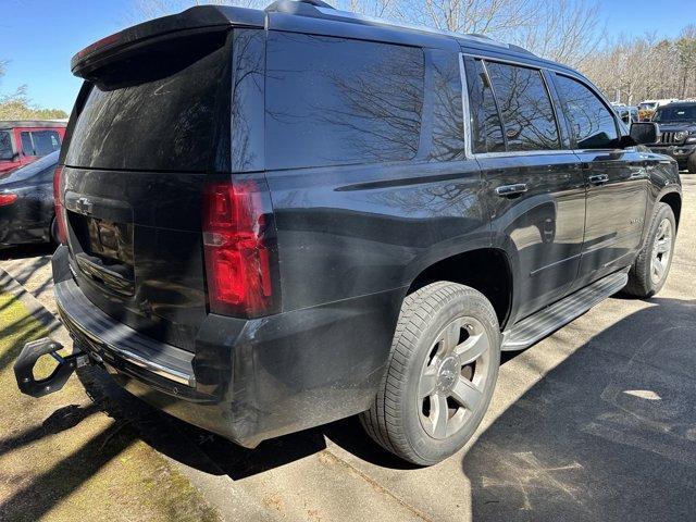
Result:
{"type": "Polygon", "coordinates": [[[580,149],[613,147],[619,139],[611,111],[580,82],[556,75],[556,85],[566,119],[580,149]]]}

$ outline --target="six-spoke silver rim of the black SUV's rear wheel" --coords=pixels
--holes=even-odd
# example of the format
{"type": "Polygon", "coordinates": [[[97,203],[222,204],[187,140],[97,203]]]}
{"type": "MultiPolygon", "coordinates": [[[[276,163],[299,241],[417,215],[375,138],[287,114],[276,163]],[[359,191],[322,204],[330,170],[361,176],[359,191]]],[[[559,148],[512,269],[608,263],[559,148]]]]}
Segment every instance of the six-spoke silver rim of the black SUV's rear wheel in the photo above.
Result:
{"type": "Polygon", "coordinates": [[[450,437],[481,409],[490,365],[490,339],[483,324],[464,316],[438,334],[423,362],[418,409],[433,438],[450,437]]]}

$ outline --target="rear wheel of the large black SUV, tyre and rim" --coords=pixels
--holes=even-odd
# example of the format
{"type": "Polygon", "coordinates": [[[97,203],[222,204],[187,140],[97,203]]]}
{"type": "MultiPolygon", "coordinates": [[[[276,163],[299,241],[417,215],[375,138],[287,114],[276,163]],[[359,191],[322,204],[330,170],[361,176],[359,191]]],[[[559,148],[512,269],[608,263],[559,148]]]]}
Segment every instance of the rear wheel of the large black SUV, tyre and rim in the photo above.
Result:
{"type": "Polygon", "coordinates": [[[464,446],[490,402],[500,364],[500,331],[483,294],[439,282],[402,304],[388,368],[372,408],[370,436],[421,465],[464,446]]]}

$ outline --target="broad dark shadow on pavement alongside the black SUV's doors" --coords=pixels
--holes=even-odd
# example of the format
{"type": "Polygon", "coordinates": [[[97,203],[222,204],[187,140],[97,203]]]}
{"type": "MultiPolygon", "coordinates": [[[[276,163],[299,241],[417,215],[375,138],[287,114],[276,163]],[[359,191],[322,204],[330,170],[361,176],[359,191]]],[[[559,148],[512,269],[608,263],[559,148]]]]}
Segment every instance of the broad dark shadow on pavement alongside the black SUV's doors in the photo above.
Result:
{"type": "Polygon", "coordinates": [[[473,520],[693,520],[696,301],[592,338],[463,456],[473,520]]]}

